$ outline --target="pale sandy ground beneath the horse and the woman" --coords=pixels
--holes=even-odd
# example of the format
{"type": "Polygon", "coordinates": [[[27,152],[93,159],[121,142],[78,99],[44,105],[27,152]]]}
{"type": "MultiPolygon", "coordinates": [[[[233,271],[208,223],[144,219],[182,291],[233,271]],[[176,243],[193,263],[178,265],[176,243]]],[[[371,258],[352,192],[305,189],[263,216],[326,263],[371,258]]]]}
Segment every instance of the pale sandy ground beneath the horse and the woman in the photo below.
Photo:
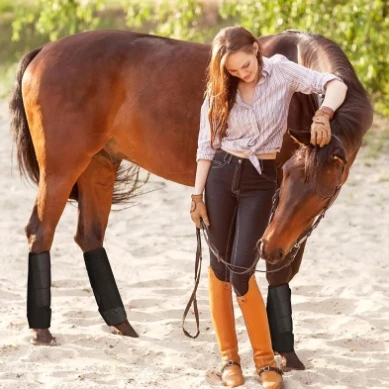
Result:
{"type": "MultiPolygon", "coordinates": [[[[198,293],[201,335],[190,340],[181,330],[193,287],[191,189],[151,177],[149,189],[161,190],[111,214],[105,248],[139,339],[111,334],[98,314],[73,241],[77,209],[66,207],[51,250],[51,329],[59,345],[36,347],[26,323],[24,235],[36,191],[19,179],[16,165],[11,172],[5,102],[0,134],[0,388],[211,388],[205,375],[219,367],[219,356],[208,310],[207,253],[198,293]]],[[[389,388],[389,156],[368,161],[364,153],[310,238],[291,285],[296,348],[307,370],[287,373],[286,389],[389,388]]],[[[263,275],[258,282],[265,296],[263,275]]],[[[236,315],[244,388],[259,388],[239,309],[236,315]]]]}

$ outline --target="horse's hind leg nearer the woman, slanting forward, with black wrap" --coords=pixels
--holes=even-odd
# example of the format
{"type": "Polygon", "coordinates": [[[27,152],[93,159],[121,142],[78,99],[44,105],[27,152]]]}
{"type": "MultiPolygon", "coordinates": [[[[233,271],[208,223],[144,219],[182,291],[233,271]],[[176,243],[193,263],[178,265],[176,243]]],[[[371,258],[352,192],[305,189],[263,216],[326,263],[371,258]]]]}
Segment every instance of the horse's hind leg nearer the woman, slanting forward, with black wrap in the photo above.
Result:
{"type": "Polygon", "coordinates": [[[103,248],[119,165],[120,162],[112,163],[108,155],[101,153],[93,157],[78,178],[79,217],[75,241],[84,252],[86,269],[101,316],[122,335],[137,337],[127,320],[107,253],[103,248]]]}

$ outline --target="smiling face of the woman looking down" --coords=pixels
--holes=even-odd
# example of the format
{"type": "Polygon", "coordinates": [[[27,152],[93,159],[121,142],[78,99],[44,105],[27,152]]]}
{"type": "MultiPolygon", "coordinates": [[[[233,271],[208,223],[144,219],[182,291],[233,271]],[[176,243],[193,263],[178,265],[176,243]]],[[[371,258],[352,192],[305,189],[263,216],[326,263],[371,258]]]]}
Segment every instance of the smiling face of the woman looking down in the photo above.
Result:
{"type": "Polygon", "coordinates": [[[254,43],[252,53],[237,51],[230,54],[225,64],[227,71],[244,82],[256,80],[258,74],[257,50],[258,46],[254,43]]]}

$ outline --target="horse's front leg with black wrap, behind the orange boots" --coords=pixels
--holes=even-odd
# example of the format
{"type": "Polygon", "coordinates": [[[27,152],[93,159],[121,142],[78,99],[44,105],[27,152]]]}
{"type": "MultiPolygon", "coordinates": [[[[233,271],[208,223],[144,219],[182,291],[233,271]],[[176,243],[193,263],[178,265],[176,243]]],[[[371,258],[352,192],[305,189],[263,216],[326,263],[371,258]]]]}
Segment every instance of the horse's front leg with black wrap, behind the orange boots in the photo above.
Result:
{"type": "MultiPolygon", "coordinates": [[[[267,315],[273,350],[281,355],[281,368],[284,371],[304,370],[294,349],[292,291],[289,282],[297,274],[303,257],[305,242],[301,245],[293,263],[285,269],[267,274],[269,283],[267,295],[267,315]]],[[[266,264],[266,270],[274,270],[280,265],[266,264]]]]}

